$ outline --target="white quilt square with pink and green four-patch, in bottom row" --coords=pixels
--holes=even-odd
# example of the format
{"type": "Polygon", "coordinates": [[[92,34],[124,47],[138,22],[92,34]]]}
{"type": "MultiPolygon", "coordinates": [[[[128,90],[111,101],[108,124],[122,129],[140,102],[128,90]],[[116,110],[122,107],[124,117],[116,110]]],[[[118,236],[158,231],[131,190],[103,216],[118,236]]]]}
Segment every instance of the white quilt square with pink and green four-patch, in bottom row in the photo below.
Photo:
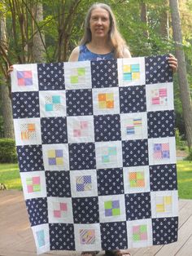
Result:
{"type": "Polygon", "coordinates": [[[139,248],[153,245],[151,218],[127,222],[128,248],[139,248]]]}

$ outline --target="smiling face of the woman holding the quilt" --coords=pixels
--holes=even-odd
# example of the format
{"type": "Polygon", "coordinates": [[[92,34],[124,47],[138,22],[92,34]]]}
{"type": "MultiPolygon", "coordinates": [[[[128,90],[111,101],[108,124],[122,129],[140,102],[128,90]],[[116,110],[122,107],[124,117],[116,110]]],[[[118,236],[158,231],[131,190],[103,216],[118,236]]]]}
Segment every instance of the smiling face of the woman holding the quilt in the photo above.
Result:
{"type": "Polygon", "coordinates": [[[103,8],[91,11],[89,28],[92,38],[107,38],[110,29],[109,13],[103,8]]]}

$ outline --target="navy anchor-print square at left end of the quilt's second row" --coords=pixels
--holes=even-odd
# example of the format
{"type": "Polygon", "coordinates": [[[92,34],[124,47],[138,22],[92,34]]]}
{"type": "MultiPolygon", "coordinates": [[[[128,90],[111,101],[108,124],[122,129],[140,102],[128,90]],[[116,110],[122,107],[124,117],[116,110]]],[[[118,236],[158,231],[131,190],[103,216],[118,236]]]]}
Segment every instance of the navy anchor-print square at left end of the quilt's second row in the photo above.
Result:
{"type": "Polygon", "coordinates": [[[40,117],[37,91],[12,92],[13,118],[40,117]]]}

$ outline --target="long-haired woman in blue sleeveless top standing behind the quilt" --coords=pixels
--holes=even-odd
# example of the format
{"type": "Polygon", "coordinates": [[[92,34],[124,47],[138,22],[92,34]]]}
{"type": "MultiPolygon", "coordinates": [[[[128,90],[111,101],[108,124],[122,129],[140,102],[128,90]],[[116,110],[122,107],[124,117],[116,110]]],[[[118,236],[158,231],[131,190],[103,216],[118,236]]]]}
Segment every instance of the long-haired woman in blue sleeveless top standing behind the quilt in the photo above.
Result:
{"type": "MultiPolygon", "coordinates": [[[[85,33],[81,45],[77,46],[69,61],[109,60],[131,58],[129,47],[116,27],[116,19],[111,8],[104,3],[96,3],[89,8],[85,18],[85,33]]],[[[169,66],[177,71],[177,59],[169,55],[169,66]]],[[[81,256],[93,256],[94,252],[82,252],[81,256]]],[[[106,251],[108,256],[128,256],[129,252],[106,251]]]]}

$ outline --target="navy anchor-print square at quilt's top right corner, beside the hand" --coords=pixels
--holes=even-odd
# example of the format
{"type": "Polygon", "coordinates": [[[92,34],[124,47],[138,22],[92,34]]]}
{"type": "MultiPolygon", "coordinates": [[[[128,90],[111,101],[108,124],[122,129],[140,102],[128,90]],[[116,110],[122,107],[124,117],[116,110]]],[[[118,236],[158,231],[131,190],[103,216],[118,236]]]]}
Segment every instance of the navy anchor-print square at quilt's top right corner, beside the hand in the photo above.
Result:
{"type": "Polygon", "coordinates": [[[168,65],[168,55],[146,57],[146,84],[172,82],[172,68],[168,65]]]}

